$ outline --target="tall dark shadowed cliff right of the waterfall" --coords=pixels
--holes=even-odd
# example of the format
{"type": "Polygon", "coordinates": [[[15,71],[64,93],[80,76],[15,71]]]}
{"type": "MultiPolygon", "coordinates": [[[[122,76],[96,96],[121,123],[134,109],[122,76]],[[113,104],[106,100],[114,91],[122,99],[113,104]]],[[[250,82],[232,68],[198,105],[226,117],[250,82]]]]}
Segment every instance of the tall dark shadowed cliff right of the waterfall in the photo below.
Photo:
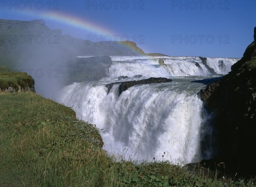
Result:
{"type": "Polygon", "coordinates": [[[216,144],[214,158],[225,163],[230,173],[255,174],[256,133],[256,28],[254,41],[232,71],[201,89],[216,144]]]}

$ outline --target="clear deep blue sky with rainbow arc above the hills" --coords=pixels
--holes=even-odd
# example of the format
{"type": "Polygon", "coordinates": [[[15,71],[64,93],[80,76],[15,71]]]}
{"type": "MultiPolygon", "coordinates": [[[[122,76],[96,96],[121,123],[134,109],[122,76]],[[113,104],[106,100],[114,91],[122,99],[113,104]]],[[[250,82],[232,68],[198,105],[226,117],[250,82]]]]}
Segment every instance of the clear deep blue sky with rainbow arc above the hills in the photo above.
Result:
{"type": "Polygon", "coordinates": [[[256,1],[1,0],[0,17],[44,19],[63,35],[92,41],[128,38],[147,53],[241,58],[253,41],[256,1]]]}

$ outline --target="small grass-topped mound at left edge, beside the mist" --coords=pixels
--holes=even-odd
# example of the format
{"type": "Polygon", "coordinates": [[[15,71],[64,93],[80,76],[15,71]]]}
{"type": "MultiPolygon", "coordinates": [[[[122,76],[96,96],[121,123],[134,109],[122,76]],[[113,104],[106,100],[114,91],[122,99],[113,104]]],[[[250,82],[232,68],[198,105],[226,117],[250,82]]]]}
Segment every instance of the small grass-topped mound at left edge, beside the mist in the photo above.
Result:
{"type": "Polygon", "coordinates": [[[0,66],[0,88],[4,90],[9,86],[12,86],[16,91],[19,89],[19,85],[26,89],[27,86],[32,88],[35,84],[34,79],[24,72],[15,72],[13,69],[0,66]]]}

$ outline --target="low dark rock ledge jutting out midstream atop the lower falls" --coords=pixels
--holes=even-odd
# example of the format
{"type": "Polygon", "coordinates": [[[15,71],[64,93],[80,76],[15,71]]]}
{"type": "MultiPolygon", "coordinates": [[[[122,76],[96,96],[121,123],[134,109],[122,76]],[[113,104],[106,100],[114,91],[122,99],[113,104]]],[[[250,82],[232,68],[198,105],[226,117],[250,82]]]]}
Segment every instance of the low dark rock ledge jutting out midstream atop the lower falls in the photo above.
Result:
{"type": "Polygon", "coordinates": [[[106,87],[108,88],[108,93],[109,93],[114,84],[120,84],[118,95],[121,95],[122,92],[124,92],[125,90],[127,90],[131,86],[135,86],[135,85],[138,85],[138,84],[168,83],[168,82],[172,82],[172,79],[162,78],[162,77],[159,77],[159,78],[151,77],[151,78],[143,79],[143,80],[140,80],[140,81],[126,81],[126,82],[110,83],[110,84],[107,84],[106,87]]]}

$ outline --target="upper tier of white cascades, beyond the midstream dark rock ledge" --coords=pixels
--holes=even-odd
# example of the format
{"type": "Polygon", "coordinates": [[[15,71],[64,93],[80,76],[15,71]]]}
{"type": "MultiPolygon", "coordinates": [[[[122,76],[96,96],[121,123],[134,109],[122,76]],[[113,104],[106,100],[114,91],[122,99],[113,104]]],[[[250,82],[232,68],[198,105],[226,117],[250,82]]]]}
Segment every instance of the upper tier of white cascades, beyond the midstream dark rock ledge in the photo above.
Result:
{"type": "MultiPolygon", "coordinates": [[[[110,68],[112,80],[119,76],[143,77],[187,77],[214,75],[202,63],[199,57],[142,57],[142,56],[111,56],[113,65],[110,68]],[[159,63],[162,59],[163,64],[159,63]]],[[[225,75],[238,58],[207,58],[207,65],[214,69],[215,74],[225,75]]]]}

